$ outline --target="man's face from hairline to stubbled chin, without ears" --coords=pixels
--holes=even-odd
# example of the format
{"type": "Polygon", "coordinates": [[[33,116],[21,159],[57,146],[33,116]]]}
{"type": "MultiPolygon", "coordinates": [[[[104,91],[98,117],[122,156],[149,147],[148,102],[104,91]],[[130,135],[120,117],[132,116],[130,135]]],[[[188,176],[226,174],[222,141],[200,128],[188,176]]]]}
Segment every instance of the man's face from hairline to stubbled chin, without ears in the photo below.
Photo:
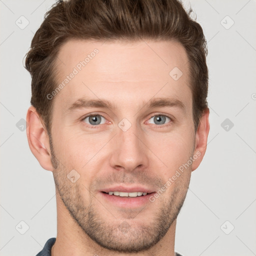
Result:
{"type": "Polygon", "coordinates": [[[102,247],[143,251],[177,217],[195,155],[187,61],[175,41],[70,40],[58,53],[65,85],[51,99],[53,177],[72,218],[102,247]]]}

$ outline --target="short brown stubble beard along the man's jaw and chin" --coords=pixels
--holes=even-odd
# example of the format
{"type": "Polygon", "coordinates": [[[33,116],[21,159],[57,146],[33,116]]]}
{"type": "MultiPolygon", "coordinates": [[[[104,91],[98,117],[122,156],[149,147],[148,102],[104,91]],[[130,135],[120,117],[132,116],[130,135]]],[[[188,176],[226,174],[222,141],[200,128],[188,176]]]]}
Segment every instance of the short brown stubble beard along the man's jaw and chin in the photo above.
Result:
{"type": "MultiPolygon", "coordinates": [[[[51,162],[54,167],[53,178],[59,197],[73,220],[98,245],[116,252],[142,252],[150,249],[166,234],[183,205],[190,176],[183,182],[181,178],[176,179],[179,184],[176,184],[169,198],[165,198],[163,193],[156,199],[161,201],[161,206],[152,214],[153,220],[150,223],[142,222],[138,225],[135,225],[134,221],[132,223],[132,219],[135,220],[138,217],[144,221],[143,210],[134,214],[134,217],[126,219],[116,219],[114,214],[107,212],[109,213],[107,215],[112,218],[112,221],[107,222],[102,216],[104,212],[96,207],[96,204],[99,204],[98,200],[93,199],[94,196],[90,194],[90,201],[84,202],[79,182],[72,183],[66,178],[68,170],[59,167],[51,138],[49,141],[51,162]]],[[[89,191],[85,188],[83,190],[89,191]]],[[[150,203],[152,205],[149,207],[154,209],[154,202],[148,202],[150,203]]],[[[104,208],[104,210],[107,209],[104,208]]]]}

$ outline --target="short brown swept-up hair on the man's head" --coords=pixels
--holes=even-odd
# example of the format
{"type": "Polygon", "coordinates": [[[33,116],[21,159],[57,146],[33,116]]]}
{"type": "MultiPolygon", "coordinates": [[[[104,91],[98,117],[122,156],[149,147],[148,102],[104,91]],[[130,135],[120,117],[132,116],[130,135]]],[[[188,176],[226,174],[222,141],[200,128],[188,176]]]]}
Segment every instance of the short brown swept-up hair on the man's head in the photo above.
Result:
{"type": "Polygon", "coordinates": [[[178,0],[59,0],[44,20],[26,53],[31,74],[31,105],[50,134],[52,101],[47,94],[57,87],[55,60],[68,39],[177,40],[189,60],[193,121],[197,130],[207,108],[208,68],[206,40],[201,26],[190,18],[178,0]]]}

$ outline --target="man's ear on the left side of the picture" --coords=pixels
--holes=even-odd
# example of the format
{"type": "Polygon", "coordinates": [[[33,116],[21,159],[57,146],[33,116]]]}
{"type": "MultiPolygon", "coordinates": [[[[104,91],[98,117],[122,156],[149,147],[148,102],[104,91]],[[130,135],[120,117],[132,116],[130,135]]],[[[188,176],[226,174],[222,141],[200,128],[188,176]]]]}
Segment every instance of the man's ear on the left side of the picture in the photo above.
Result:
{"type": "Polygon", "coordinates": [[[31,152],[44,169],[53,171],[54,168],[50,160],[49,137],[35,107],[30,106],[28,108],[26,122],[26,135],[31,152]]]}

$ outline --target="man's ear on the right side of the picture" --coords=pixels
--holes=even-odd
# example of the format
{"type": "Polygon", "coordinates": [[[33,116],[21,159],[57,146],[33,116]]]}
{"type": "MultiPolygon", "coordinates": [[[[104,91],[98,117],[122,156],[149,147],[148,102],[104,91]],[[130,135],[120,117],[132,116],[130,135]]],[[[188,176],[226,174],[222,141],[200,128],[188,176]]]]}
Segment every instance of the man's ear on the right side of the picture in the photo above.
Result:
{"type": "Polygon", "coordinates": [[[200,118],[200,123],[195,134],[195,147],[193,154],[194,161],[192,163],[192,171],[195,170],[202,161],[207,147],[209,129],[209,108],[207,108],[204,110],[200,118]]]}

